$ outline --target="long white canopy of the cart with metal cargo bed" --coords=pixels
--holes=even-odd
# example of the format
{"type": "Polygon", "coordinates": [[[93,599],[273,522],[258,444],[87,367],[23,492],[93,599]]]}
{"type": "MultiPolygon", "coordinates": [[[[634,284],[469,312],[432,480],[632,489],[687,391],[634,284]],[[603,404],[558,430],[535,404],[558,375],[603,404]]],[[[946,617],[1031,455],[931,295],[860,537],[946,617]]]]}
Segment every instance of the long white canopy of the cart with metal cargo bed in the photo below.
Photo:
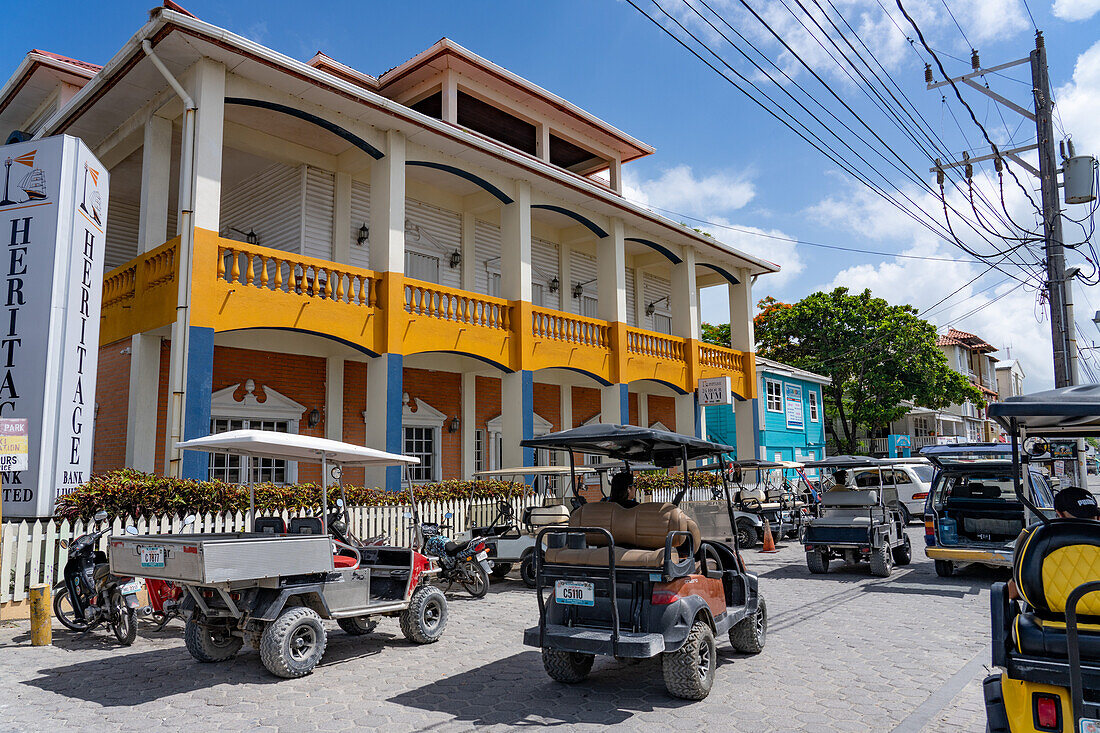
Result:
{"type": "Polygon", "coordinates": [[[273,430],[230,430],[177,442],[176,447],[182,450],[201,450],[208,453],[231,453],[251,458],[280,458],[314,463],[323,460],[342,467],[400,466],[420,462],[419,458],[387,453],[350,442],[273,430]]]}

